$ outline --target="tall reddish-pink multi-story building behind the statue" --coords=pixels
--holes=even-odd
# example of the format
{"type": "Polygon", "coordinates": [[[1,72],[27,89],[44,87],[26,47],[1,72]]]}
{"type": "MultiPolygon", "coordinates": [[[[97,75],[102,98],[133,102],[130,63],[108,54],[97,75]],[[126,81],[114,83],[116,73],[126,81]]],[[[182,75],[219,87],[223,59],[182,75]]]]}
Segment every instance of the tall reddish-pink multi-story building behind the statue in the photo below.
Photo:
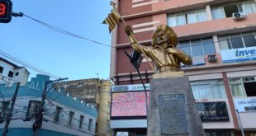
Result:
{"type": "MultiPolygon", "coordinates": [[[[192,66],[183,66],[182,69],[191,82],[207,135],[241,135],[241,128],[245,135],[256,134],[255,0],[115,2],[141,45],[151,45],[151,36],[156,26],[168,25],[177,33],[178,49],[183,49],[193,59],[192,66]],[[215,107],[215,110],[210,107],[215,107]]],[[[141,82],[124,53],[131,53],[132,49],[122,22],[112,32],[112,46],[111,78],[117,86],[116,91],[135,91],[129,88],[141,82]]],[[[143,81],[149,83],[153,70],[145,59],[140,73],[143,81]]],[[[113,95],[112,99],[114,101],[113,95]]],[[[115,107],[112,105],[111,108],[115,107]]],[[[127,124],[130,124],[129,120],[138,119],[138,116],[131,118],[129,115],[119,117],[118,120],[126,121],[127,124]]],[[[141,131],[146,131],[145,122],[127,125],[129,127],[119,127],[119,123],[116,116],[111,115],[111,128],[116,132],[140,135],[141,131]]]]}

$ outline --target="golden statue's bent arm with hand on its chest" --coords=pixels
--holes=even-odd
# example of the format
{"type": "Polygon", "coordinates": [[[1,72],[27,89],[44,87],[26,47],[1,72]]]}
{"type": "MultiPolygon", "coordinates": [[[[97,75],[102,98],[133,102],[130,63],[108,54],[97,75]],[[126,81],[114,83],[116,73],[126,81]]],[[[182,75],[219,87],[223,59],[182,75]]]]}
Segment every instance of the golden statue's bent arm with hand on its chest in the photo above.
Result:
{"type": "Polygon", "coordinates": [[[165,52],[168,54],[173,54],[179,60],[181,60],[181,62],[183,62],[184,64],[192,65],[192,58],[188,54],[183,52],[183,50],[176,49],[176,48],[168,48],[165,50],[165,52]]]}

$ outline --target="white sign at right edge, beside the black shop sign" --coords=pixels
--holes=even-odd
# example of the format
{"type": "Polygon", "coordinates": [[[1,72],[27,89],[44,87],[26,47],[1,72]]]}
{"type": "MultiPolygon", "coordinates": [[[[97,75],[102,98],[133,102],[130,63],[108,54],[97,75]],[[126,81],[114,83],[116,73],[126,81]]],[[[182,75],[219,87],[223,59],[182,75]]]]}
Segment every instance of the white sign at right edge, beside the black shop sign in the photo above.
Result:
{"type": "Polygon", "coordinates": [[[256,111],[256,99],[235,99],[235,107],[239,112],[256,111]]]}

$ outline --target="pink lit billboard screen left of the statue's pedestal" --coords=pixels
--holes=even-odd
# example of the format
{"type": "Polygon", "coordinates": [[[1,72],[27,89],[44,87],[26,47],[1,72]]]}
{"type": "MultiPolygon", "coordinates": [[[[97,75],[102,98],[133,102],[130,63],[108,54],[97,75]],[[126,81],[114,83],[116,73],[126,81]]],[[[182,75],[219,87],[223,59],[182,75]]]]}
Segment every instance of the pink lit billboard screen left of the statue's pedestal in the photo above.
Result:
{"type": "MultiPolygon", "coordinates": [[[[147,91],[149,104],[149,91],[147,91]]],[[[145,91],[112,92],[111,119],[115,117],[145,117],[145,91]]]]}

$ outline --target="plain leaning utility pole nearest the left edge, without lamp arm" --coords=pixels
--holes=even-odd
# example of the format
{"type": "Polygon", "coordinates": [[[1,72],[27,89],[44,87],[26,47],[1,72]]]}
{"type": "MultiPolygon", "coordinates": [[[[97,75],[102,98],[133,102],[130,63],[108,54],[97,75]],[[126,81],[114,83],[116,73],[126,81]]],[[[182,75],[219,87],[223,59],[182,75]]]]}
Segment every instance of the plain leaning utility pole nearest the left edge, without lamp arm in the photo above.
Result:
{"type": "Polygon", "coordinates": [[[16,86],[16,90],[12,96],[12,105],[11,105],[11,109],[7,112],[7,122],[5,123],[4,125],[4,129],[2,131],[2,136],[6,136],[7,135],[7,132],[8,132],[8,127],[9,127],[9,124],[11,122],[11,117],[12,117],[12,110],[14,108],[14,104],[15,104],[15,101],[16,101],[16,98],[17,98],[17,93],[19,91],[19,87],[20,87],[20,82],[17,82],[17,86],[16,86]]]}

